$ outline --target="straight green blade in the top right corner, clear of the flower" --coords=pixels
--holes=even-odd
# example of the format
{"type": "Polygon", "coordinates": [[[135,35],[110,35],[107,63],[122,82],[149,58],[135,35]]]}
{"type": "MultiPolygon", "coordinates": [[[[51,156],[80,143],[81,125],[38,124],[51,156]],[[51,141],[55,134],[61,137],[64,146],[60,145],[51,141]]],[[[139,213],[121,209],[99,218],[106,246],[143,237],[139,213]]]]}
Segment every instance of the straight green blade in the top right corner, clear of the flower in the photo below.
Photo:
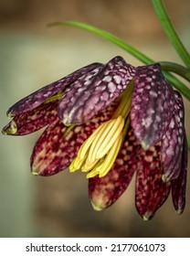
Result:
{"type": "Polygon", "coordinates": [[[167,15],[166,9],[164,7],[162,0],[152,0],[154,10],[161,22],[164,31],[169,38],[170,42],[172,43],[174,49],[179,54],[181,59],[184,61],[187,68],[190,69],[190,55],[186,50],[184,44],[182,43],[181,39],[178,37],[174,26],[167,15]]]}

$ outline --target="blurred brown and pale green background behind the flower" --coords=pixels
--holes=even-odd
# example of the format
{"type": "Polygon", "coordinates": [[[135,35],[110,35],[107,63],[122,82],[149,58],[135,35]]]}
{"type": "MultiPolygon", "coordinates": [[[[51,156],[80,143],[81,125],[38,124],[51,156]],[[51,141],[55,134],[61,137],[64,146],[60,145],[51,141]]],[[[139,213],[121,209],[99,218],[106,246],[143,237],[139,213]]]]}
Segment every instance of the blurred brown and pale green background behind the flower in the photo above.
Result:
{"type": "MultiPolygon", "coordinates": [[[[186,48],[190,50],[189,0],[165,0],[186,48]]],[[[151,58],[181,63],[167,41],[150,0],[1,0],[0,126],[6,110],[32,91],[93,61],[121,55],[142,65],[111,43],[73,27],[47,27],[76,20],[106,29],[151,58]]],[[[185,126],[190,137],[190,105],[185,126]]],[[[30,174],[29,158],[41,131],[25,137],[0,135],[0,237],[190,237],[190,176],[186,208],[174,212],[172,199],[151,221],[134,206],[134,179],[111,207],[94,211],[83,174],[30,174]]],[[[188,168],[190,171],[190,167],[188,168]]]]}

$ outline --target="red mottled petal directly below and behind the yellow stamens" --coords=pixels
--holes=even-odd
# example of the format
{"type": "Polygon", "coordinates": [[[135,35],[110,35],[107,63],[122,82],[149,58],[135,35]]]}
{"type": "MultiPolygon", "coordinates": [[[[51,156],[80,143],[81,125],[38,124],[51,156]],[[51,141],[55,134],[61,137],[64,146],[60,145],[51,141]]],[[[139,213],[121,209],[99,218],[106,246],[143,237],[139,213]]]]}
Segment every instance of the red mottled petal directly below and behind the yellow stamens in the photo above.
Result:
{"type": "Polygon", "coordinates": [[[135,137],[130,129],[121,151],[106,176],[89,179],[89,196],[96,210],[110,207],[129,186],[135,171],[135,155],[137,151],[135,137]]]}

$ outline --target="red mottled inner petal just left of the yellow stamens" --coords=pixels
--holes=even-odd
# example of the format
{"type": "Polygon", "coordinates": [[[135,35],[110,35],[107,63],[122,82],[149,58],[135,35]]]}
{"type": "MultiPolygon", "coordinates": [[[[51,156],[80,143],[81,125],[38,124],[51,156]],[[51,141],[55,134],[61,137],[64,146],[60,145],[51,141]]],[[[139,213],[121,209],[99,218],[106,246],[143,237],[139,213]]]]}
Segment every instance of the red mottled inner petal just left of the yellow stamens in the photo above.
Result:
{"type": "Polygon", "coordinates": [[[71,130],[64,136],[67,129],[68,127],[59,119],[47,126],[38,139],[31,156],[31,168],[34,175],[52,176],[70,165],[79,149],[77,141],[79,138],[76,128],[74,132],[71,130]]]}

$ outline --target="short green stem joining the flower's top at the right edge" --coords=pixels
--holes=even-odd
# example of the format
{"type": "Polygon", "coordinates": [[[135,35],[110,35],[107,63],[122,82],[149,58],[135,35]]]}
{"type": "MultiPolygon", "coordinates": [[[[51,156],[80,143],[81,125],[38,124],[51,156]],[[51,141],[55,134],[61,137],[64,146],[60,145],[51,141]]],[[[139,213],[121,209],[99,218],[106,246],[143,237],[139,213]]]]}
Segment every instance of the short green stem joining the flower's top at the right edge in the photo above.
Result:
{"type": "Polygon", "coordinates": [[[186,69],[184,66],[170,61],[160,61],[159,63],[163,70],[174,72],[185,80],[190,81],[190,70],[186,69]]]}

